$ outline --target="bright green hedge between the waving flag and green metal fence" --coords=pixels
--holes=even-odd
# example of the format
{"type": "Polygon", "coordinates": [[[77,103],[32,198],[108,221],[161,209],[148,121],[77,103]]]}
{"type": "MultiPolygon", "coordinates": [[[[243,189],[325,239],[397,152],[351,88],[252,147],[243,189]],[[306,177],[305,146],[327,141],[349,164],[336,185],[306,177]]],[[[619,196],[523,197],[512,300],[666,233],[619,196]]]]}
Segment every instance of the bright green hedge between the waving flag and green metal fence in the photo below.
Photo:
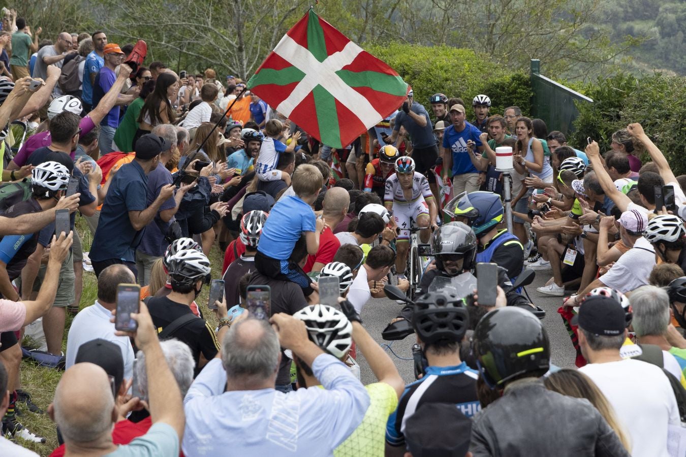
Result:
{"type": "Polygon", "coordinates": [[[519,106],[525,115],[531,111],[529,75],[512,73],[470,49],[405,45],[399,42],[367,45],[366,49],[389,64],[412,86],[414,99],[422,103],[429,114],[429,97],[436,92],[462,98],[467,105],[468,119],[473,118],[471,99],[478,94],[490,97],[492,114],[503,114],[505,108],[513,105],[519,106]]]}

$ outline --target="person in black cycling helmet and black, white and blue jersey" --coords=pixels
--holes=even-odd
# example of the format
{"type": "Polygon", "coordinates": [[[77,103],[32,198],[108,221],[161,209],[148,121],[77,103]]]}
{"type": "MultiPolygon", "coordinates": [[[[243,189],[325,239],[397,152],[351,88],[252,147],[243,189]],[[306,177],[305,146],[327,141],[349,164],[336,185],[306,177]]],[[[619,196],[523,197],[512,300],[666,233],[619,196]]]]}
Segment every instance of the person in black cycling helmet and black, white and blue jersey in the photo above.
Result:
{"type": "Polygon", "coordinates": [[[466,417],[481,409],[476,393],[478,373],[460,360],[468,312],[461,300],[447,299],[441,293],[428,293],[416,302],[412,326],[428,365],[420,380],[405,387],[398,409],[388,418],[386,455],[405,452],[405,421],[422,404],[452,403],[466,417]],[[453,332],[446,332],[446,326],[453,332]]]}

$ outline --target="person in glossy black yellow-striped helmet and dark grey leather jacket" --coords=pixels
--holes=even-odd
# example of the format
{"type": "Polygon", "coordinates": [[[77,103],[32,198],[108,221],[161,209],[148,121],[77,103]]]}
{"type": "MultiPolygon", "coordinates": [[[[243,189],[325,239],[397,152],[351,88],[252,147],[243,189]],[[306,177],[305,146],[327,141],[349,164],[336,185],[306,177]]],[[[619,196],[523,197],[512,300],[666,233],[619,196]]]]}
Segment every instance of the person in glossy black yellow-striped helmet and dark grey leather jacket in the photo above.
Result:
{"type": "Polygon", "coordinates": [[[512,449],[531,456],[629,455],[586,399],[549,391],[541,382],[550,347],[539,319],[517,308],[497,308],[481,319],[472,338],[482,379],[502,395],[473,419],[474,457],[512,455],[512,449]]]}

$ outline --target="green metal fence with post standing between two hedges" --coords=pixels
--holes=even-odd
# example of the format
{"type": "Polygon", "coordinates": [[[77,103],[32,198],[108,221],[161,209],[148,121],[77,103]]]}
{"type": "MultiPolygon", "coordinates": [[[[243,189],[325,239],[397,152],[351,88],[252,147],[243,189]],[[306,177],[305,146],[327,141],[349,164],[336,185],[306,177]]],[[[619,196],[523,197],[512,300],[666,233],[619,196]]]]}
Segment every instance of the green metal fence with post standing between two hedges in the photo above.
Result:
{"type": "Polygon", "coordinates": [[[541,75],[541,60],[531,61],[531,87],[534,92],[532,114],[545,121],[548,132],[559,130],[565,135],[572,132],[571,123],[579,115],[574,101],[593,103],[589,97],[541,75]]]}

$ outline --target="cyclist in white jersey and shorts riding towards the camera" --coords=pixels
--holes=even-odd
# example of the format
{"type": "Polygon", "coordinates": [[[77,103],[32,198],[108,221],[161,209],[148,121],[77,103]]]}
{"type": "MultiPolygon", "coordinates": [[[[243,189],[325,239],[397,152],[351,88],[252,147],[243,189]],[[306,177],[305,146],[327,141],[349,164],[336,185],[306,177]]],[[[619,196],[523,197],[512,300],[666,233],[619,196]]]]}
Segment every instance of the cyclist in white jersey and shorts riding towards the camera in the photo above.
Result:
{"type": "Polygon", "coordinates": [[[422,243],[428,243],[431,231],[438,227],[438,208],[434,194],[431,193],[427,178],[414,171],[412,158],[401,157],[396,160],[395,174],[386,180],[383,204],[388,210],[392,210],[394,224],[399,229],[395,267],[400,273],[405,271],[412,221],[423,229],[419,234],[422,243]]]}

